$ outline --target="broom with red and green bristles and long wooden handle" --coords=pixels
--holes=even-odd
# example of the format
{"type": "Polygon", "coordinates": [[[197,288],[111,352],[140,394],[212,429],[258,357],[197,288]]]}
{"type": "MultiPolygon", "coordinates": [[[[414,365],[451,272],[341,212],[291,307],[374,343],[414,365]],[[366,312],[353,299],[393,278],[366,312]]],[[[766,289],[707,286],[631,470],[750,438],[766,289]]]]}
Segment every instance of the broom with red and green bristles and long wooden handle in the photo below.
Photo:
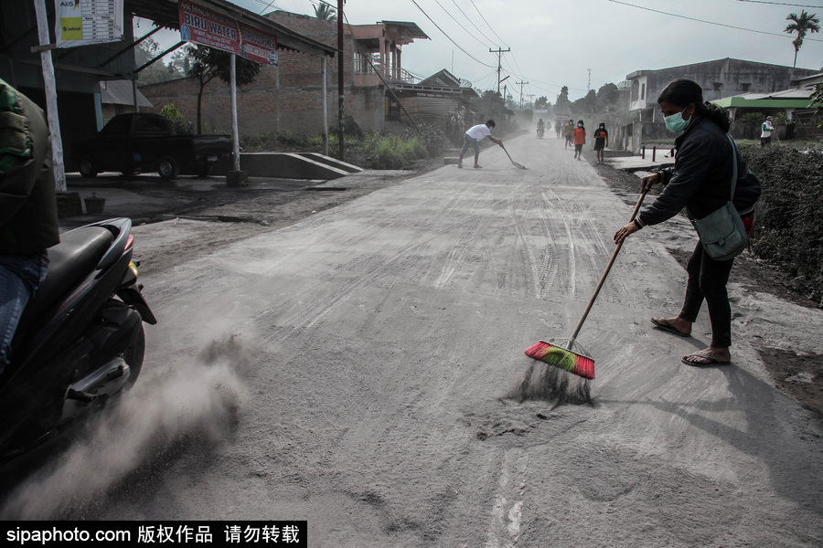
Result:
{"type": "MultiPolygon", "coordinates": [[[[647,191],[644,191],[637,200],[637,205],[635,205],[635,210],[632,212],[632,218],[629,219],[629,222],[635,220],[635,216],[640,210],[640,205],[643,204],[643,198],[646,197],[646,192],[647,191]]],[[[623,241],[615,245],[615,250],[612,252],[612,258],[609,260],[609,264],[606,265],[603,276],[600,277],[597,288],[594,290],[594,294],[589,300],[589,304],[586,305],[586,310],[583,311],[583,316],[581,316],[580,321],[577,322],[577,327],[574,328],[572,337],[565,341],[553,339],[550,342],[540,341],[532,345],[526,351],[526,355],[529,356],[529,358],[540,360],[540,362],[545,362],[546,364],[554,365],[555,367],[560,367],[569,373],[582,376],[584,379],[594,378],[594,358],[589,356],[583,347],[579,343],[575,342],[575,340],[577,339],[577,334],[583,328],[583,321],[586,321],[589,311],[592,310],[594,300],[597,299],[597,294],[600,293],[601,288],[603,288],[603,284],[606,276],[609,274],[609,270],[611,270],[612,265],[615,264],[617,253],[622,247],[623,241]]]]}

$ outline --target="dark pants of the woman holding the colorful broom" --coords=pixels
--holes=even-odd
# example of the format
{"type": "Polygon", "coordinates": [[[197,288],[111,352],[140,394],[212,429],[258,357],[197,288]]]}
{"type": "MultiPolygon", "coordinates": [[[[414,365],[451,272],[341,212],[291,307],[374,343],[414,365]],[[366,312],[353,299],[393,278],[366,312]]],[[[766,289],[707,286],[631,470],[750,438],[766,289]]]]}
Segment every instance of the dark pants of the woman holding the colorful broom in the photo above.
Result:
{"type": "Polygon", "coordinates": [[[686,265],[689,281],[686,283],[686,300],[680,318],[696,321],[703,299],[709,307],[711,321],[711,346],[728,348],[732,346],[732,306],[726,292],[726,283],[732,273],[731,260],[714,260],[709,257],[698,241],[694,253],[686,265]]]}

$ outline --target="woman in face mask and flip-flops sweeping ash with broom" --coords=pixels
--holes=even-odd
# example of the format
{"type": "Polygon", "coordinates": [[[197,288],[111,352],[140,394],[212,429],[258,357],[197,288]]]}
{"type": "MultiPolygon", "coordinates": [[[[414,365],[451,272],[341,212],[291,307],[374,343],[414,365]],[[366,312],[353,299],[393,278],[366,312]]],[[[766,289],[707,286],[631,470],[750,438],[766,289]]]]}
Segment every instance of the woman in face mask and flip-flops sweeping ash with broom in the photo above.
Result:
{"type": "MultiPolygon", "coordinates": [[[[677,215],[684,206],[689,218],[693,222],[696,220],[696,227],[700,230],[701,221],[710,219],[710,216],[715,218],[714,214],[732,198],[732,192],[732,213],[733,209],[737,210],[743,220],[742,229],[744,227],[748,234],[754,222],[754,203],[760,195],[760,184],[748,172],[743,156],[726,134],[731,122],[725,111],[703,103],[700,85],[688,79],[671,82],[660,93],[657,104],[663,111],[668,130],[679,133],[675,140],[678,151],[675,165],[641,180],[644,191],[657,183],[663,183],[666,187],[635,221],[617,230],[615,243],[622,242],[643,227],[657,225],[677,215]]],[[[740,220],[738,218],[736,222],[740,220]]],[[[704,232],[701,230],[700,234],[704,232]]],[[[689,337],[700,306],[706,300],[711,321],[711,344],[700,352],[683,356],[683,363],[689,365],[728,364],[732,361],[729,352],[732,345],[732,310],[726,283],[734,259],[712,258],[710,251],[713,249],[708,239],[701,236],[702,241],[698,242],[689,258],[686,297],[679,315],[674,318],[652,318],[657,328],[689,337]]],[[[740,250],[742,248],[735,253],[740,250]]]]}

